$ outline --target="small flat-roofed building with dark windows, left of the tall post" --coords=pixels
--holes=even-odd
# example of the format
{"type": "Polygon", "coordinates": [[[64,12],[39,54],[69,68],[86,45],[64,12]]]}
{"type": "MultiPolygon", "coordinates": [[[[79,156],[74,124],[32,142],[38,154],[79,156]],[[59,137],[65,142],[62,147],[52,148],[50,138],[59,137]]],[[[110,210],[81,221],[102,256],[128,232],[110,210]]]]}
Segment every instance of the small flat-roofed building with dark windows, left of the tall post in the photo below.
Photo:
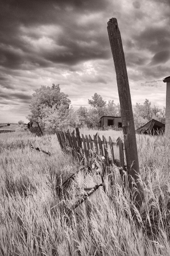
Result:
{"type": "Polygon", "coordinates": [[[118,128],[122,127],[122,118],[121,117],[113,117],[110,115],[103,115],[100,118],[100,127],[108,127],[108,126],[115,126],[118,128]]]}

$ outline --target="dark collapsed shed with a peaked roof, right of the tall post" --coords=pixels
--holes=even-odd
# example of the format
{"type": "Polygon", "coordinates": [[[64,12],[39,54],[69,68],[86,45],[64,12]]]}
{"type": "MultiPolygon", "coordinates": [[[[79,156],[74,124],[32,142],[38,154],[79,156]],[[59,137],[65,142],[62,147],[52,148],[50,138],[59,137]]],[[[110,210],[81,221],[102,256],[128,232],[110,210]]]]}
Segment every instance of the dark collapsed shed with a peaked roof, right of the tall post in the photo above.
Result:
{"type": "Polygon", "coordinates": [[[141,126],[136,130],[136,133],[144,133],[144,134],[157,134],[163,133],[165,130],[165,124],[161,123],[155,119],[152,119],[145,125],[141,126]]]}

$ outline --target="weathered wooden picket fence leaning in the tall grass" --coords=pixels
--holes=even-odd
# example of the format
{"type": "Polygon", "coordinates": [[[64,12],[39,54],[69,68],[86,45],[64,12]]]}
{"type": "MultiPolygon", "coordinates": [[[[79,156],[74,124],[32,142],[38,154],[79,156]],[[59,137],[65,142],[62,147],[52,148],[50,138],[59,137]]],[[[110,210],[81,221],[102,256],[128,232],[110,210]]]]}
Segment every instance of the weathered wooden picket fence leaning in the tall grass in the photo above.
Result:
{"type": "Polygon", "coordinates": [[[116,164],[118,167],[122,167],[125,170],[125,159],[123,151],[123,142],[119,137],[117,142],[112,142],[109,137],[109,141],[106,140],[105,136],[102,136],[102,139],[98,134],[94,135],[93,138],[90,135],[82,134],[80,136],[80,131],[76,127],[75,130],[71,133],[68,131],[56,131],[57,138],[59,140],[62,150],[72,154],[73,158],[78,160],[85,159],[85,163],[89,168],[92,168],[93,165],[93,156],[105,157],[106,167],[110,167],[112,164],[116,164]],[[119,159],[114,158],[114,149],[113,146],[119,147],[119,159]],[[110,151],[110,156],[109,156],[110,151]]]}

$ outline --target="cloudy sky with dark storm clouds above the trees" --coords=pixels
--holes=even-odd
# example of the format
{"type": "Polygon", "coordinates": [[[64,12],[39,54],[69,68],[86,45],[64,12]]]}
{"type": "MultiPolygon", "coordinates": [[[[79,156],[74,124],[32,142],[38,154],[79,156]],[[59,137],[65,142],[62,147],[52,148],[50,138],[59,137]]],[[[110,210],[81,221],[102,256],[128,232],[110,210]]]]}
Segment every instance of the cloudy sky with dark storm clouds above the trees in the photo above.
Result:
{"type": "Polygon", "coordinates": [[[132,105],[163,108],[170,75],[169,0],[2,0],[0,123],[26,121],[32,93],[60,84],[74,109],[94,93],[119,102],[107,22],[117,18],[132,105]]]}

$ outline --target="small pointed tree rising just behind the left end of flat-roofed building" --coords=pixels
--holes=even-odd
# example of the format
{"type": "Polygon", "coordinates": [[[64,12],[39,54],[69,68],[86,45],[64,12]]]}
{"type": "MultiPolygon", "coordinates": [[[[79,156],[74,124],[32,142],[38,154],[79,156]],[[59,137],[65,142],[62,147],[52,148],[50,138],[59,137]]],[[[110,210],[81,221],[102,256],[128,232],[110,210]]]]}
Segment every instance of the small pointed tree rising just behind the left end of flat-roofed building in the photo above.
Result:
{"type": "Polygon", "coordinates": [[[101,117],[103,115],[103,108],[106,106],[106,101],[103,101],[103,98],[97,93],[94,93],[92,99],[93,100],[88,100],[88,104],[96,109],[98,116],[101,117]]]}

